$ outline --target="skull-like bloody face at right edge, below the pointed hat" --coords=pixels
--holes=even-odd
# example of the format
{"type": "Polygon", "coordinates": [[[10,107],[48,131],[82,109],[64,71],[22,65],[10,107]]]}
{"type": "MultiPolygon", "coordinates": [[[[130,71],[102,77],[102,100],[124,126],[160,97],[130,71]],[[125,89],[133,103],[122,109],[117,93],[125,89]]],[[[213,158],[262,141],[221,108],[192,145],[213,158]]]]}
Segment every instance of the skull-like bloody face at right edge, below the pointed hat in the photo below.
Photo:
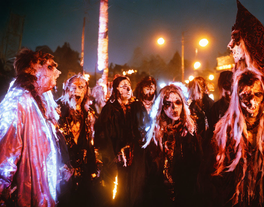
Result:
{"type": "Polygon", "coordinates": [[[263,100],[263,89],[259,80],[251,86],[245,86],[239,93],[240,105],[249,116],[256,117],[259,113],[260,104],[263,100]]]}

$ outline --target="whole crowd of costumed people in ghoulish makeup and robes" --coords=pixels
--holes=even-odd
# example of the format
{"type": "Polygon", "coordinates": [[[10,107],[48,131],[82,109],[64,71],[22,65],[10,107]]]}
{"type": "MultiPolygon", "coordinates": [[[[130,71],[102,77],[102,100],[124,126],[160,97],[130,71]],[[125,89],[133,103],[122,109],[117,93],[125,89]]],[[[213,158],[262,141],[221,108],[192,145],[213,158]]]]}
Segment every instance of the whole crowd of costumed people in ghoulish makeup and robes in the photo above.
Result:
{"type": "Polygon", "coordinates": [[[264,206],[264,27],[237,0],[220,100],[202,77],[156,92],[116,75],[90,92],[21,49],[0,103],[0,206],[264,206]],[[93,100],[93,101],[91,101],[93,100]]]}

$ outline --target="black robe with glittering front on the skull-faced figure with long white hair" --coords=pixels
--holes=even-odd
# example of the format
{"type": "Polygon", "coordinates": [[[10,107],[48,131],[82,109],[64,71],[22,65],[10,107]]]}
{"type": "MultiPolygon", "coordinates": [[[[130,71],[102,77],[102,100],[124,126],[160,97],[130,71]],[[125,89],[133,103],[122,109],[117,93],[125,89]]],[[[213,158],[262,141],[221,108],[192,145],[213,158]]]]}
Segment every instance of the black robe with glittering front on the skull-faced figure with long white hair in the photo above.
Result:
{"type": "MultiPolygon", "coordinates": [[[[177,121],[176,121],[177,123],[177,121]]],[[[165,128],[163,150],[151,142],[151,173],[148,178],[147,206],[197,206],[197,174],[202,161],[201,140],[181,128],[165,128]],[[151,180],[152,179],[152,180],[151,180]]]]}

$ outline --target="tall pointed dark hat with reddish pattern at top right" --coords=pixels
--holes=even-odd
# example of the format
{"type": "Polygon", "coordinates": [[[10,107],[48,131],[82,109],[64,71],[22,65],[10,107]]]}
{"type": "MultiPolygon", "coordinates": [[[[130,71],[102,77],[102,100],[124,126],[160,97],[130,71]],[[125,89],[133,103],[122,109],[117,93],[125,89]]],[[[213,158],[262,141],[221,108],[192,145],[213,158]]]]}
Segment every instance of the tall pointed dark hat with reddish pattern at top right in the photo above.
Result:
{"type": "Polygon", "coordinates": [[[253,16],[237,0],[237,18],[232,27],[232,39],[239,45],[240,36],[245,42],[251,58],[261,67],[264,67],[264,27],[261,22],[253,16]]]}

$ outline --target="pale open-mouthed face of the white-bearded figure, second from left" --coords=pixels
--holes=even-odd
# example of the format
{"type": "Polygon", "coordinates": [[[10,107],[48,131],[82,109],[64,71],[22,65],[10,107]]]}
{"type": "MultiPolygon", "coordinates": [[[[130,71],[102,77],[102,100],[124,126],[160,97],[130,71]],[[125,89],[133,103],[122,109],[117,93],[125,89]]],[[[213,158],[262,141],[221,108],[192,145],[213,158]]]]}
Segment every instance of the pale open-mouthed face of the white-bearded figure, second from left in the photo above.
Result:
{"type": "Polygon", "coordinates": [[[85,80],[81,78],[76,78],[74,81],[72,81],[69,88],[70,101],[71,99],[75,99],[76,104],[80,105],[84,98],[85,92],[86,92],[85,80]]]}

